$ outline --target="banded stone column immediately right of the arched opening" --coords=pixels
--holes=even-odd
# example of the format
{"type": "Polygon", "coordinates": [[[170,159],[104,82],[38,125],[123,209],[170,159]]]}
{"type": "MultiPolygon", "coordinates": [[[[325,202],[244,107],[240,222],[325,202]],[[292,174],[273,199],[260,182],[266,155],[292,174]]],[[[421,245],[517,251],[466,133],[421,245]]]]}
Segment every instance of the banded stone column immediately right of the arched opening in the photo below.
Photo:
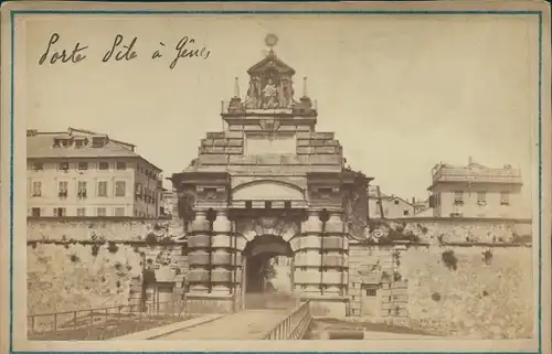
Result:
{"type": "Polygon", "coordinates": [[[295,240],[294,282],[298,293],[320,293],[320,239],[322,222],[318,211],[308,211],[295,240]]]}

